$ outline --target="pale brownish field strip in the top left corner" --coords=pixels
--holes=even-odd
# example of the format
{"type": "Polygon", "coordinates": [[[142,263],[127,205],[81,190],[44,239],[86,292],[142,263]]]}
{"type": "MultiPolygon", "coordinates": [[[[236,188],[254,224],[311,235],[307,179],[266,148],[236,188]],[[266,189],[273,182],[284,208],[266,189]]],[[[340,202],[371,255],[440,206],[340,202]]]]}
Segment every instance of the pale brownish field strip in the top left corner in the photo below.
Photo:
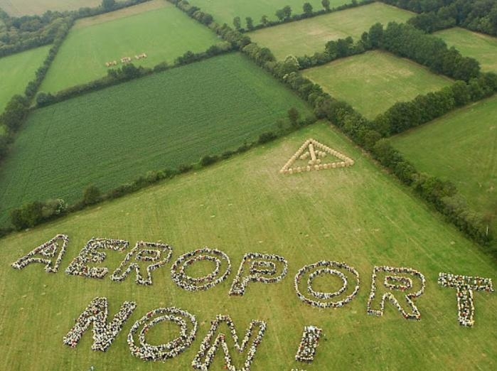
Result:
{"type": "MultiPolygon", "coordinates": [[[[119,1],[119,0],[118,0],[119,1]]],[[[101,0],[0,0],[0,8],[11,16],[43,14],[51,11],[70,11],[102,4],[101,0]]]]}

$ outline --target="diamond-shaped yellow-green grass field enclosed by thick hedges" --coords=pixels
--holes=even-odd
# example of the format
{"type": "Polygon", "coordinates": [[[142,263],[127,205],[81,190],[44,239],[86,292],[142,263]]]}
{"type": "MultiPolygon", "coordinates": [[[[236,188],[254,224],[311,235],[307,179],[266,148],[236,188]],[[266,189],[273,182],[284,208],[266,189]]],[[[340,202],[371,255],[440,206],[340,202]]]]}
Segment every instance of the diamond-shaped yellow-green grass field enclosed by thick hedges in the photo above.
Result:
{"type": "Polygon", "coordinates": [[[380,51],[343,58],[302,73],[370,119],[395,102],[412,100],[451,83],[449,78],[434,75],[417,63],[380,51]]]}

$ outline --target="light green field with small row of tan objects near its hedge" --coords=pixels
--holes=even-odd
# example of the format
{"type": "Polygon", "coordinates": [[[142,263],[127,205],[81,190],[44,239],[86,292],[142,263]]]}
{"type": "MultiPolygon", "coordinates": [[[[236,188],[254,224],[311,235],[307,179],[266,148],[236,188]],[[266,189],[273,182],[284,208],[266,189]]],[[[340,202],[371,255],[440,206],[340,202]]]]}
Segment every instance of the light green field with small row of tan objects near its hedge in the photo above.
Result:
{"type": "Polygon", "coordinates": [[[153,67],[218,42],[215,33],[164,0],[85,18],[70,31],[41,90],[56,92],[96,80],[107,75],[106,62],[119,62],[125,56],[133,58],[135,65],[153,67]],[[134,60],[139,53],[148,58],[134,60]]]}

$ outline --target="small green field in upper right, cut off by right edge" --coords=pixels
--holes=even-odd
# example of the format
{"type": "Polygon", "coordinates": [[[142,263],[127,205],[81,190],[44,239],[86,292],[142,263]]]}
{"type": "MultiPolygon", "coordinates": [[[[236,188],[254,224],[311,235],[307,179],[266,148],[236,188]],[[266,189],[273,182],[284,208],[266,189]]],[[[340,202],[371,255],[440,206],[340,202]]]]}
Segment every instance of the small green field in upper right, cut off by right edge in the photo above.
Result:
{"type": "Polygon", "coordinates": [[[459,27],[434,34],[442,38],[447,45],[455,46],[462,55],[478,60],[481,70],[497,72],[497,38],[459,27]]]}

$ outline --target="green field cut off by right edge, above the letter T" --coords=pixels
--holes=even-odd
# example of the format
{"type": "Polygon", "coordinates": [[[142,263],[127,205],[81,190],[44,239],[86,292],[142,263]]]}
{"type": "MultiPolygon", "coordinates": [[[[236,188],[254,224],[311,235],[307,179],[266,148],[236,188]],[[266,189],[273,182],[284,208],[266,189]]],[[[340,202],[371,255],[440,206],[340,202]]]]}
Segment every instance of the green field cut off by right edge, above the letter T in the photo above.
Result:
{"type": "Polygon", "coordinates": [[[454,182],[497,231],[497,97],[408,131],[393,144],[420,171],[454,182]]]}

